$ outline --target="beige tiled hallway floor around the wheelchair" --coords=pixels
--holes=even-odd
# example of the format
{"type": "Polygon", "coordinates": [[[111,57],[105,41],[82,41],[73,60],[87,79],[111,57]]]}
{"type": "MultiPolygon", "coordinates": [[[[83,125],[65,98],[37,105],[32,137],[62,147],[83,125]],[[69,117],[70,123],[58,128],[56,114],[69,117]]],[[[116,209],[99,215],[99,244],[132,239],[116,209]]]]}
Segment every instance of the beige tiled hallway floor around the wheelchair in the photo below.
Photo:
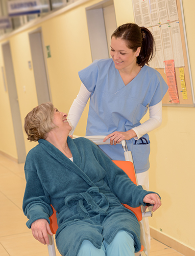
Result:
{"type": "MultiPolygon", "coordinates": [[[[33,238],[21,208],[26,185],[23,166],[0,154],[0,255],[47,256],[47,247],[33,238]]],[[[182,254],[152,239],[150,256],[160,255],[182,254]]]]}

